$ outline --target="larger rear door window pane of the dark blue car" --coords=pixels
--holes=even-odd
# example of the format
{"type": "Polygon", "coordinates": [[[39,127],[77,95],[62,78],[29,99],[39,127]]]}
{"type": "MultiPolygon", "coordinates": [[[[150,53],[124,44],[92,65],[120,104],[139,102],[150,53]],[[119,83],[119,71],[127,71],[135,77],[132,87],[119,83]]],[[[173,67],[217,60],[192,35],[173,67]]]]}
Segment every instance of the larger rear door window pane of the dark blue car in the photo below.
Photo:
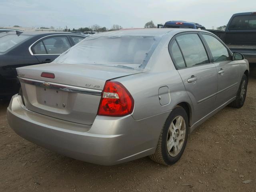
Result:
{"type": "Polygon", "coordinates": [[[71,46],[66,36],[55,36],[43,40],[47,54],[62,54],[71,46]]]}

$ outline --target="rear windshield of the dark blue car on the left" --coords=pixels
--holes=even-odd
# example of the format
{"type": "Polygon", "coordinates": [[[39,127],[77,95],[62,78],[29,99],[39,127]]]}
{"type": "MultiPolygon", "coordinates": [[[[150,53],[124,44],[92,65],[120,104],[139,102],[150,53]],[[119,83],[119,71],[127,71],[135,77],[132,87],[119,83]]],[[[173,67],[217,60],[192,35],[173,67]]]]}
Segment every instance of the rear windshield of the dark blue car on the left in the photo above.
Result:
{"type": "Polygon", "coordinates": [[[24,41],[25,39],[29,38],[28,35],[14,35],[14,34],[7,34],[7,35],[0,35],[0,52],[6,52],[12,47],[16,46],[20,42],[24,41]]]}

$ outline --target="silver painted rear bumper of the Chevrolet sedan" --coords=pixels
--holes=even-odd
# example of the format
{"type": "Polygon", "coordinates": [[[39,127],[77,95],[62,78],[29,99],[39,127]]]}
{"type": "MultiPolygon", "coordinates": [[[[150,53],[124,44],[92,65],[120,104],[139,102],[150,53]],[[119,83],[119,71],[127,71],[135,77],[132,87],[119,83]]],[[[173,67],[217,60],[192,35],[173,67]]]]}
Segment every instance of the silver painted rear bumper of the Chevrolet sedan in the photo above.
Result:
{"type": "Polygon", "coordinates": [[[17,94],[7,108],[10,127],[21,137],[78,160],[113,165],[154,153],[165,112],[136,121],[96,116],[92,126],[75,124],[32,112],[17,94]]]}

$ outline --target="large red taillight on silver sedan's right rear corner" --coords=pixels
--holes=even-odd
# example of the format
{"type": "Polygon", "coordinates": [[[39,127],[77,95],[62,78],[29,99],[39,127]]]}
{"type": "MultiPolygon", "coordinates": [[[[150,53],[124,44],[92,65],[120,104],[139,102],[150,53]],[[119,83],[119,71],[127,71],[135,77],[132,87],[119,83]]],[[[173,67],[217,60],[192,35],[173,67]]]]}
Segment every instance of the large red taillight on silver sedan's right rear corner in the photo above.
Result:
{"type": "Polygon", "coordinates": [[[125,116],[132,113],[134,100],[119,82],[107,81],[102,91],[98,115],[125,116]]]}

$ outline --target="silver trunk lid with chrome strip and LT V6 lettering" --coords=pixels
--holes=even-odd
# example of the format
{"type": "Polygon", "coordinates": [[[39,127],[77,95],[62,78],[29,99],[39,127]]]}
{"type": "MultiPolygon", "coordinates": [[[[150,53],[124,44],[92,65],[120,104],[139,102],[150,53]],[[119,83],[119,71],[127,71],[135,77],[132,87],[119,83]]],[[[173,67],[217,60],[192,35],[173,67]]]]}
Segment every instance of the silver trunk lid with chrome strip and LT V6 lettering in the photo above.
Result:
{"type": "Polygon", "coordinates": [[[86,125],[91,125],[97,115],[106,80],[140,72],[109,66],[55,63],[17,68],[26,108],[86,125]],[[53,73],[55,77],[41,77],[42,72],[53,73]]]}

